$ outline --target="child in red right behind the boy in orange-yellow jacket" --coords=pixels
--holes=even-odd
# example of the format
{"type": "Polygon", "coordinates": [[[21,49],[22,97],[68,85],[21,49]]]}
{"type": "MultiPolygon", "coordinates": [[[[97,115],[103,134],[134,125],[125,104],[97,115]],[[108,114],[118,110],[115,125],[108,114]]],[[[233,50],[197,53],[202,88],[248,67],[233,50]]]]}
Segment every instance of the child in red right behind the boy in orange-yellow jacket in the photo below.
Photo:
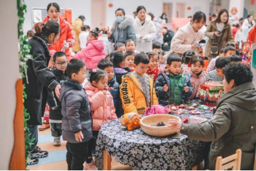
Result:
{"type": "Polygon", "coordinates": [[[155,52],[147,53],[147,55],[150,59],[150,67],[148,67],[148,71],[146,72],[146,74],[149,75],[155,83],[155,80],[157,80],[159,73],[162,72],[162,70],[159,69],[159,55],[155,52]]]}

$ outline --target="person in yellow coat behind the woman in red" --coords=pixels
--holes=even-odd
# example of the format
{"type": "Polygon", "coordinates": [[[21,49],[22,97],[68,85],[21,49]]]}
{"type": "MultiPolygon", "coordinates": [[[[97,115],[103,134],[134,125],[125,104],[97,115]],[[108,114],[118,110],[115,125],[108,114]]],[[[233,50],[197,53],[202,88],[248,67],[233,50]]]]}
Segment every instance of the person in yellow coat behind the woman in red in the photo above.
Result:
{"type": "Polygon", "coordinates": [[[74,35],[75,35],[75,45],[73,46],[72,50],[75,53],[81,51],[80,43],[79,43],[79,34],[82,32],[84,21],[85,21],[85,17],[81,15],[78,17],[78,19],[75,19],[75,21],[72,24],[72,28],[74,29],[74,35]]]}

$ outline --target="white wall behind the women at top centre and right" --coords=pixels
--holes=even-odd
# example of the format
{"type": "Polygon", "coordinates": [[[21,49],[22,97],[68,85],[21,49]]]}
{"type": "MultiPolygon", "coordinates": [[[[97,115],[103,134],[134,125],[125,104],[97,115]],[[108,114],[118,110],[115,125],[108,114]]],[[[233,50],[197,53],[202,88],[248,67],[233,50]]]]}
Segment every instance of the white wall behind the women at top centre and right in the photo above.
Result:
{"type": "Polygon", "coordinates": [[[146,7],[147,12],[152,12],[155,16],[161,16],[162,6],[164,3],[173,3],[173,17],[176,16],[175,6],[177,3],[186,3],[185,16],[193,15],[194,8],[201,9],[202,12],[206,13],[208,17],[210,13],[210,0],[108,0],[107,5],[107,26],[112,27],[115,21],[115,10],[117,8],[124,8],[126,15],[133,15],[133,12],[137,10],[137,6],[143,5],[146,7]],[[108,7],[109,3],[113,3],[113,7],[108,7]],[[187,10],[188,6],[192,7],[192,10],[187,10]]]}

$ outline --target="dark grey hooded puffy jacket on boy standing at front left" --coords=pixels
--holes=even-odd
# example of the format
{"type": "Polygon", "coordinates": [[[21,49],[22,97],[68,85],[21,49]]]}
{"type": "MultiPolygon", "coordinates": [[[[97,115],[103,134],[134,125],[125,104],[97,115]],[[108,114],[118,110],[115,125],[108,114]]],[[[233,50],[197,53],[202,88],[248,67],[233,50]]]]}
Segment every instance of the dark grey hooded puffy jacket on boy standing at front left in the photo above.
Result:
{"type": "Polygon", "coordinates": [[[74,80],[61,82],[61,113],[63,114],[63,140],[78,143],[75,133],[82,131],[86,143],[92,139],[92,116],[88,96],[83,87],[74,80]]]}

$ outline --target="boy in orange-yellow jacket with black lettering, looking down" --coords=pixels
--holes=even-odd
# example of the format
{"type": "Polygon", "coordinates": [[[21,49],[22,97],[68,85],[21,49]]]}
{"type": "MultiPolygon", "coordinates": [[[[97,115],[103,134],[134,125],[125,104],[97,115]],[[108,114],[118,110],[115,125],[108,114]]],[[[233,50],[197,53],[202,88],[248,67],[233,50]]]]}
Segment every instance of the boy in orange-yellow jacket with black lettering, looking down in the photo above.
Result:
{"type": "Polygon", "coordinates": [[[148,107],[158,104],[153,79],[146,75],[150,60],[146,53],[138,53],[134,60],[135,71],[123,76],[120,96],[124,113],[144,114],[148,107]]]}

